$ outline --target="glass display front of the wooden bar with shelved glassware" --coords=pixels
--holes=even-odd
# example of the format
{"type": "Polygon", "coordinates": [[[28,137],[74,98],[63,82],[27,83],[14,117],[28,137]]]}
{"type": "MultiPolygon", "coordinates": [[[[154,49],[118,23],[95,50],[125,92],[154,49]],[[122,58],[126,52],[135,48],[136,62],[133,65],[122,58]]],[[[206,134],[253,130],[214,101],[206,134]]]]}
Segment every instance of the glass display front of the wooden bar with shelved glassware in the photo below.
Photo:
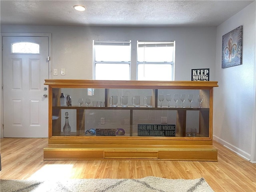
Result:
{"type": "Polygon", "coordinates": [[[104,88],[92,88],[92,90],[94,90],[94,94],[88,96],[87,88],[52,89],[53,136],[65,135],[63,127],[66,120],[65,113],[68,112],[70,136],[104,136],[103,134],[112,136],[111,134],[115,133],[116,136],[192,137],[192,128],[194,128],[196,137],[209,137],[210,90],[159,89],[157,98],[155,98],[154,89],[108,89],[107,98],[105,98],[106,90],[104,88]],[[63,95],[68,93],[71,96],[72,105],[70,107],[60,105],[61,93],[63,95]],[[167,94],[171,96],[170,108],[167,107],[167,94]],[[180,98],[175,108],[174,94],[185,95],[184,108],[180,98]],[[160,108],[159,95],[164,97],[162,108],[160,108]],[[191,108],[188,95],[193,95],[194,98],[191,108]],[[198,95],[203,95],[201,108],[198,95]],[[117,96],[117,108],[110,107],[110,96],[117,96]],[[127,96],[127,107],[121,107],[121,96],[127,96]],[[133,96],[140,96],[139,108],[132,106],[133,96]],[[144,97],[148,96],[152,97],[152,107],[150,108],[144,105],[144,97]],[[84,100],[82,107],[78,105],[79,98],[84,100]],[[87,99],[90,99],[90,102],[87,102],[88,107],[87,99]],[[105,100],[107,100],[105,108],[99,108],[102,107],[100,105],[96,105],[97,108],[94,108],[94,102],[98,104],[99,101],[105,102],[105,100]],[[155,108],[156,101],[158,106],[155,108]],[[130,117],[130,115],[132,116],[130,117]],[[94,132],[90,132],[90,129],[94,129],[94,132]]]}

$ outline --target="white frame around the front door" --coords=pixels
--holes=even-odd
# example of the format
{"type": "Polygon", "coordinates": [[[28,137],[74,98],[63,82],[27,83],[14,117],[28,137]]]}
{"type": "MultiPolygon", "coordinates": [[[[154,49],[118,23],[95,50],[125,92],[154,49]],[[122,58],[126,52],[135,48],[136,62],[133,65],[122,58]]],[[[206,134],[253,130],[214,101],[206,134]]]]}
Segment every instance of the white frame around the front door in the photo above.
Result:
{"type": "Polygon", "coordinates": [[[51,33],[1,33],[1,51],[0,51],[0,138],[4,137],[4,128],[3,128],[3,122],[4,122],[4,109],[3,109],[3,37],[48,37],[48,51],[49,51],[49,57],[50,60],[48,62],[48,77],[49,79],[52,79],[52,34],[51,33]]]}

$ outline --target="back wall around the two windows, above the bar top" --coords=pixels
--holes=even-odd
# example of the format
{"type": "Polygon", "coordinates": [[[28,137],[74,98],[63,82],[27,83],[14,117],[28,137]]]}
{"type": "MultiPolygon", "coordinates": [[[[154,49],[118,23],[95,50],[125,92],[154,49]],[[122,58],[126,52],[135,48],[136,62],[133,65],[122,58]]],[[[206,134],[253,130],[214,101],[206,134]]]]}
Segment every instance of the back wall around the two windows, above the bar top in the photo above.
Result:
{"type": "MultiPolygon", "coordinates": [[[[92,40],[175,40],[175,80],[191,80],[192,68],[210,68],[215,76],[215,27],[66,27],[66,26],[1,26],[1,32],[52,33],[52,68],[58,68],[60,79],[92,79],[92,40]],[[66,75],[60,75],[60,69],[66,75]]],[[[136,58],[132,58],[136,66],[136,58]]],[[[136,68],[132,68],[132,80],[136,68]]]]}

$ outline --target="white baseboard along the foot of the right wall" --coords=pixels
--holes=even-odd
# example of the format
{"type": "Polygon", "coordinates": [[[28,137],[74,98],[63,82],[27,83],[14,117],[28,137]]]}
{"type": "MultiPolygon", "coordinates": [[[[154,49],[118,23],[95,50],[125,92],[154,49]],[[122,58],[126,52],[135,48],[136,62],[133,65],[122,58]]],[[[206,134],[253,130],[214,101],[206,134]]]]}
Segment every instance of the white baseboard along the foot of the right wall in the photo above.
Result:
{"type": "MultiPolygon", "coordinates": [[[[217,142],[219,142],[220,144],[222,144],[224,147],[228,148],[229,150],[231,150],[232,152],[238,154],[240,157],[250,161],[251,161],[251,155],[243,150],[241,150],[240,148],[237,148],[236,146],[224,141],[223,139],[213,135],[213,140],[216,140],[217,142]]],[[[256,163],[256,162],[252,162],[252,163],[256,163]]]]}

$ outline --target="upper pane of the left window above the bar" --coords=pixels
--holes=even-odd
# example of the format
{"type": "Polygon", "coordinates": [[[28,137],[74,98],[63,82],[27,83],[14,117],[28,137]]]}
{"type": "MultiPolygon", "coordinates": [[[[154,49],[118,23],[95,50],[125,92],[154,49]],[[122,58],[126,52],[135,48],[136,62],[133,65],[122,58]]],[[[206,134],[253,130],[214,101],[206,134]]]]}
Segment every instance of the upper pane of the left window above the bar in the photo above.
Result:
{"type": "Polygon", "coordinates": [[[129,62],[131,58],[130,46],[124,45],[95,45],[96,61],[129,62]]]}

